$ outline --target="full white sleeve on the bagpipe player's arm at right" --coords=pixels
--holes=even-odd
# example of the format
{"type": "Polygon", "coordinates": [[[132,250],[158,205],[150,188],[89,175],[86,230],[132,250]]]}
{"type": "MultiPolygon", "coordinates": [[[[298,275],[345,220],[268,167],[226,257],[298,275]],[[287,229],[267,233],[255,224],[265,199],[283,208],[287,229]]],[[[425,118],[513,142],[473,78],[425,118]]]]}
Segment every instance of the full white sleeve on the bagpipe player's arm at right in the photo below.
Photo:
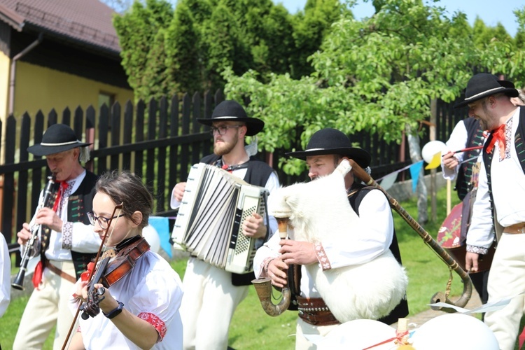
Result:
{"type": "Polygon", "coordinates": [[[380,190],[370,190],[360,203],[356,229],[321,244],[333,269],[377,258],[388,249],[392,239],[393,217],[388,200],[380,190]]]}

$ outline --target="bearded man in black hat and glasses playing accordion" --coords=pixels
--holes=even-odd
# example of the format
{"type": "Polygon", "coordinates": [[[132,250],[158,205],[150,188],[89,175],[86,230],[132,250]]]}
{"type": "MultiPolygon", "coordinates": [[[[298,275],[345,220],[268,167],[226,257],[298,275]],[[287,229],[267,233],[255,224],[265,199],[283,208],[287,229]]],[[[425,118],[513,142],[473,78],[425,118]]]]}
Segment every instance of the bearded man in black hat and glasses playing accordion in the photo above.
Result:
{"type": "MultiPolygon", "coordinates": [[[[218,104],[211,118],[197,120],[210,125],[214,137],[214,154],[202,158],[201,162],[221,167],[252,185],[265,187],[270,193],[279,187],[274,170],[253,157],[256,145],[244,146],[246,136],[262,130],[265,125],[262,120],[248,118],[242,106],[230,100],[218,104]]],[[[186,183],[176,184],[172,208],[179,207],[185,188],[186,183]]],[[[261,246],[275,231],[274,218],[270,218],[268,225],[255,213],[244,221],[243,233],[258,239],[256,246],[261,246]]],[[[230,321],[237,305],[248,294],[253,278],[253,272],[234,274],[190,257],[183,278],[185,293],[181,304],[184,349],[227,348],[230,321]]]]}

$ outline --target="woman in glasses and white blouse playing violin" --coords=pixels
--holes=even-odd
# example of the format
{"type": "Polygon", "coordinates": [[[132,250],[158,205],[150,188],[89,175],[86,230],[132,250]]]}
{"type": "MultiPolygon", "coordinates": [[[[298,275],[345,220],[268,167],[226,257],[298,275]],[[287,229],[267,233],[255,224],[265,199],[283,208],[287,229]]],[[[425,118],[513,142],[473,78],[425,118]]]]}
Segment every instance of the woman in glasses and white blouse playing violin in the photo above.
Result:
{"type": "MultiPolygon", "coordinates": [[[[129,172],[104,174],[95,189],[90,221],[101,239],[107,231],[105,255],[114,251],[116,261],[119,252],[142,241],[153,197],[141,179],[129,172]],[[119,211],[115,208],[120,203],[119,211]]],[[[111,265],[109,259],[106,271],[111,265]]],[[[87,319],[80,319],[69,349],[182,348],[181,280],[160,255],[146,249],[121,279],[108,288],[101,287],[102,283],[90,286],[82,279],[76,283],[76,304],[78,300],[86,302],[90,290],[98,290],[95,297],[101,312],[94,317],[83,315],[87,319]]]]}

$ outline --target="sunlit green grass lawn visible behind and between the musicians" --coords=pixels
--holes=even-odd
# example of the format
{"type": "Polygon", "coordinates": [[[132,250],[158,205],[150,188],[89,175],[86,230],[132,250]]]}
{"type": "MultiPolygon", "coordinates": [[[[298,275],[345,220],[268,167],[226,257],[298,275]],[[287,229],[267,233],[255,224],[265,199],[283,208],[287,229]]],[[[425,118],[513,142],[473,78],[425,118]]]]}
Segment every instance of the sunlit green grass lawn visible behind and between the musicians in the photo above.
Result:
{"type": "MultiPolygon", "coordinates": [[[[457,202],[455,193],[453,201],[457,202]]],[[[446,217],[446,190],[437,193],[437,220],[425,225],[426,231],[435,238],[437,230],[446,217]]],[[[455,203],[453,203],[454,205],[455,203]]],[[[402,207],[416,220],[416,200],[401,203],[402,207]]],[[[430,216],[430,200],[428,201],[430,216]]],[[[409,317],[428,310],[427,304],[437,292],[444,292],[449,278],[449,269],[444,262],[426,246],[423,239],[409,227],[402,218],[394,213],[395,230],[398,235],[403,265],[409,276],[407,290],[409,317]]],[[[173,261],[172,266],[182,277],[186,260],[173,261]]],[[[457,274],[453,274],[451,295],[459,296],[463,283],[457,274]]],[[[186,291],[188,293],[188,291],[186,291]]],[[[189,291],[189,293],[191,293],[189,291]]],[[[452,298],[454,299],[454,297],[452,298]]],[[[3,349],[11,349],[20,317],[27,299],[12,300],[6,314],[0,318],[0,339],[3,349]]],[[[230,346],[234,349],[293,349],[295,344],[295,321],[297,313],[286,311],[281,316],[270,317],[262,311],[253,287],[248,297],[241,302],[230,325],[230,346]]],[[[52,348],[52,335],[43,349],[52,348]]]]}

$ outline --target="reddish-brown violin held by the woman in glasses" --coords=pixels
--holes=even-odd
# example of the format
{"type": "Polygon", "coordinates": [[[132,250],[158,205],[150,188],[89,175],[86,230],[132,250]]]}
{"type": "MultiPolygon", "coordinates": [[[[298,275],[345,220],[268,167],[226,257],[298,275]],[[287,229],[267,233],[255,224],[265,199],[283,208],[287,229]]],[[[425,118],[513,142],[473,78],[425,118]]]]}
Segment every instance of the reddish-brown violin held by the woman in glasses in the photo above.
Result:
{"type": "Polygon", "coordinates": [[[126,276],[135,266],[135,263],[146,251],[150,250],[150,245],[144,237],[135,236],[120,242],[115,248],[115,257],[104,258],[97,268],[90,283],[87,284],[87,301],[80,305],[83,311],[82,318],[97,316],[100,312],[99,302],[104,300],[105,288],[113,286],[126,276]],[[95,283],[102,283],[104,287],[94,288],[95,283]]]}

